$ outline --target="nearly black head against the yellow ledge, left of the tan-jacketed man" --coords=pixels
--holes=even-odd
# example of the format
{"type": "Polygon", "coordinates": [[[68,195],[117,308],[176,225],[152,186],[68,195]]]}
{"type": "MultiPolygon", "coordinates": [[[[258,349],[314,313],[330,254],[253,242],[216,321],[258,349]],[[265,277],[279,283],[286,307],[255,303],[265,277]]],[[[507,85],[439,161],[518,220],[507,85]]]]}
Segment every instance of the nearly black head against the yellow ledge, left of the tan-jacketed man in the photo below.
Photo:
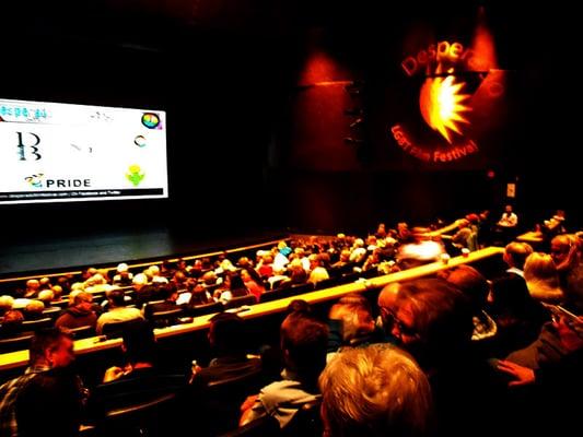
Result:
{"type": "Polygon", "coordinates": [[[235,314],[219,312],[210,319],[209,342],[219,356],[245,352],[245,322],[235,314]]]}

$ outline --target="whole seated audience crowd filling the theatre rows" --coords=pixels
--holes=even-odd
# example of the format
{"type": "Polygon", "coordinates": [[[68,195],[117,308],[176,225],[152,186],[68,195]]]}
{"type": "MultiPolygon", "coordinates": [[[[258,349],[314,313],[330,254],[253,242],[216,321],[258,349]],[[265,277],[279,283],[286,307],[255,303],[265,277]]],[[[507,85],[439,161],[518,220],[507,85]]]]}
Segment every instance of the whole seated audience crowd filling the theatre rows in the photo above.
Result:
{"type": "MultiPolygon", "coordinates": [[[[515,222],[512,214],[506,210],[505,220],[515,222]]],[[[73,436],[80,424],[117,435],[120,428],[108,428],[112,412],[144,402],[158,405],[159,422],[195,426],[197,435],[237,426],[265,426],[253,435],[270,435],[271,426],[346,437],[578,429],[583,241],[575,234],[555,236],[549,253],[510,243],[505,267],[494,274],[453,267],[345,295],[325,314],[294,300],[279,344],[259,351],[250,350],[246,320],[219,312],[210,321],[208,366],[194,362],[184,375],[158,366],[160,320],[173,324],[205,305],[260,302],[304,284],[389,273],[468,245],[474,250],[479,226],[478,214],[459,221],[464,232],[446,245],[428,237],[431,229],[380,225],[365,239],[281,241],[255,259],[225,253],[143,271],[123,263],[113,275],[88,269],[82,281],[30,280],[0,297],[1,336],[32,332],[30,367],[0,387],[0,435],[73,436]],[[107,333],[127,322],[124,364],[112,363],[100,385],[84,387],[73,366],[75,330],[107,333]],[[167,405],[172,420],[164,422],[167,405]]]]}

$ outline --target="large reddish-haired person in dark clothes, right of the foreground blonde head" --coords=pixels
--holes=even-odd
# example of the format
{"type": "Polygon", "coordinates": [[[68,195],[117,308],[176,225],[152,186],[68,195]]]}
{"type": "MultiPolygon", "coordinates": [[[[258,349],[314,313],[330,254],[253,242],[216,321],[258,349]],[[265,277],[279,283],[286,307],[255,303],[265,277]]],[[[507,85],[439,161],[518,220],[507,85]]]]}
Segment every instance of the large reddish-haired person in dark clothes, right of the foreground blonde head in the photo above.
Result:
{"type": "Polygon", "coordinates": [[[505,387],[473,352],[468,298],[443,280],[416,280],[401,284],[397,307],[393,334],[429,378],[436,435],[491,436],[504,423],[505,387]]]}

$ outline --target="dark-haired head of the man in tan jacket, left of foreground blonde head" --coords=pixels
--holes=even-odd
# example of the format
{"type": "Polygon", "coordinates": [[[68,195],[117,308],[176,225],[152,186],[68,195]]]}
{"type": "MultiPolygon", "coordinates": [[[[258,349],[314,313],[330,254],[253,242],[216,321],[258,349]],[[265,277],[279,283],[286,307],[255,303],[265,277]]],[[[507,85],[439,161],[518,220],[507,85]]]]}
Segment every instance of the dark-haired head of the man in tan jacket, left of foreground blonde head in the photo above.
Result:
{"type": "Polygon", "coordinates": [[[280,330],[285,368],[307,385],[315,385],[326,365],[328,328],[301,312],[292,312],[280,330]]]}

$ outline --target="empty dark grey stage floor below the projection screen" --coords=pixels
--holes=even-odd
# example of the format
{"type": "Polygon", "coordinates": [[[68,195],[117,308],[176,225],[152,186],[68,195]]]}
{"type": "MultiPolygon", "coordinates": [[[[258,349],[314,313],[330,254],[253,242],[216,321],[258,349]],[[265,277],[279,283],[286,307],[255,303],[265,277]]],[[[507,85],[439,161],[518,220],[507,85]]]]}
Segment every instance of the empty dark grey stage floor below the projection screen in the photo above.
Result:
{"type": "Polygon", "coordinates": [[[0,248],[0,277],[205,253],[285,236],[281,232],[254,232],[210,238],[149,228],[5,241],[0,248]]]}

